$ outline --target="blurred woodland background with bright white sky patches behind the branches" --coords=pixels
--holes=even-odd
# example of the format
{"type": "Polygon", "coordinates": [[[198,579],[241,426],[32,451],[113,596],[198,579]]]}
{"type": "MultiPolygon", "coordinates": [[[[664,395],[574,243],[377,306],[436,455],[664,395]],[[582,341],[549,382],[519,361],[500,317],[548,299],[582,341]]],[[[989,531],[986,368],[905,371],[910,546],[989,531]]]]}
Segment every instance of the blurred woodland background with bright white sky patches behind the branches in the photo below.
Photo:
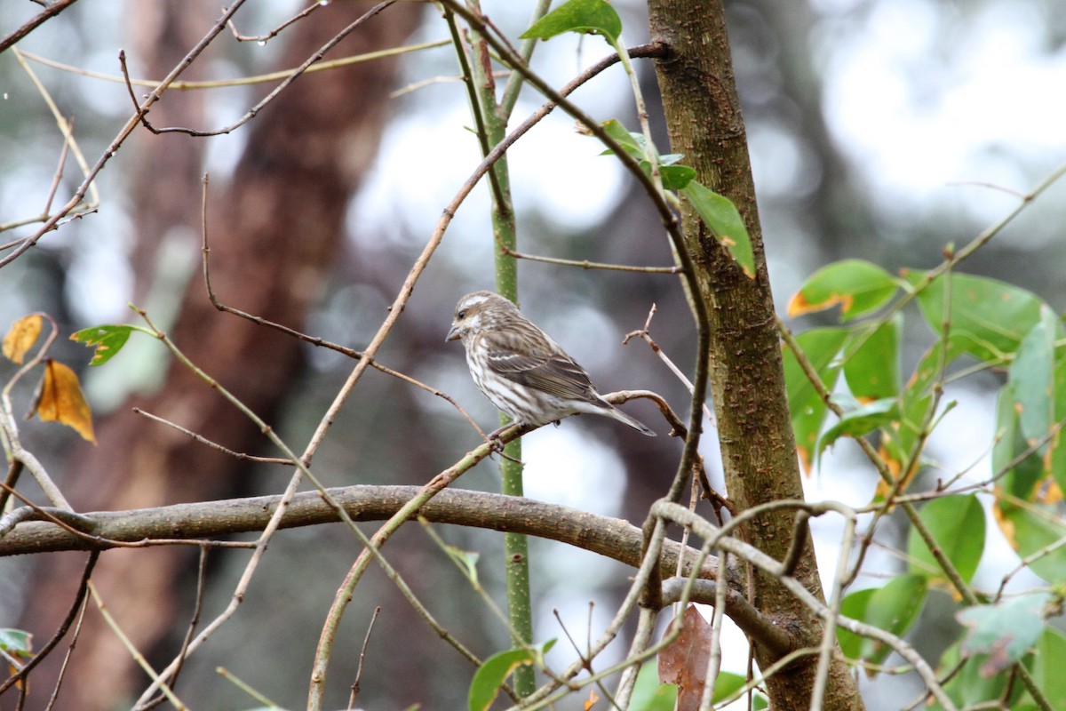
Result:
{"type": "MultiPolygon", "coordinates": [[[[524,28],[529,3],[483,4],[513,35],[524,28]]],[[[781,306],[808,274],[836,259],[869,259],[890,271],[936,264],[946,245],[968,242],[1066,160],[1066,3],[1061,0],[726,4],[770,273],[781,306]]],[[[643,3],[618,0],[615,5],[624,16],[625,42],[646,42],[643,3]]],[[[265,43],[238,43],[224,34],[184,78],[236,79],[296,66],[368,6],[335,0],[265,43]]],[[[238,28],[262,33],[298,9],[281,0],[249,3],[238,28]]],[[[0,33],[38,10],[0,0],[0,33]]],[[[117,54],[124,48],[131,76],[159,79],[217,12],[205,0],[81,0],[18,48],[110,77],[119,75],[117,54]]],[[[432,7],[399,3],[356,30],[327,59],[447,36],[432,7]]],[[[561,37],[538,49],[534,67],[562,85],[607,53],[596,37],[561,37]]],[[[131,113],[125,87],[32,59],[27,64],[63,115],[72,117],[78,143],[95,162],[131,113]]],[[[655,106],[651,66],[639,66],[655,106]]],[[[199,366],[302,449],[353,361],[208,304],[200,275],[201,176],[210,173],[212,280],[220,298],[359,349],[385,317],[441,209],[479,161],[456,74],[453,50],[442,46],[305,76],[229,134],[194,139],[139,129],[99,176],[99,210],[45,236],[0,270],[0,324],[6,327],[42,310],[59,321],[65,337],[99,323],[135,322],[127,308],[132,302],[147,308],[199,366]]],[[[237,120],[271,86],[172,91],[149,118],[156,126],[219,128],[237,120]]],[[[7,223],[42,211],[62,138],[12,51],[0,54],[0,223],[7,223]]],[[[617,117],[636,127],[618,68],[589,82],[575,99],[597,118],[617,117]]],[[[527,91],[516,119],[537,106],[539,97],[527,91]]],[[[665,152],[658,111],[651,120],[665,152]]],[[[600,152],[561,113],[508,152],[519,248],[602,262],[671,263],[663,231],[640,190],[600,152]]],[[[68,161],[56,201],[65,201],[79,181],[68,161]]],[[[1066,185],[1059,184],[963,269],[1017,282],[1061,311],[1064,224],[1066,185]]],[[[0,243],[33,228],[0,233],[0,243]]],[[[488,194],[480,187],[456,215],[379,354],[385,365],[454,397],[483,427],[494,425],[495,411],[470,382],[462,349],[442,339],[456,298],[491,287],[492,251],[488,194]]],[[[621,345],[656,304],[652,337],[682,370],[691,367],[693,329],[676,277],[527,261],[520,265],[519,289],[523,310],[592,372],[601,390],[649,388],[684,408],[683,387],[650,350],[639,341],[621,345]]],[[[807,317],[795,328],[831,318],[807,317]]],[[[927,342],[925,327],[915,318],[908,327],[917,359],[927,342]]],[[[53,355],[83,371],[99,447],[36,420],[23,424],[22,432],[77,508],[273,494],[288,480],[288,470],[241,465],[131,411],[138,405],[231,449],[272,454],[249,423],[176,368],[158,343],[133,342],[93,371],[83,368],[87,351],[64,338],[53,355]]],[[[13,372],[11,363],[0,366],[4,379],[13,372]]],[[[946,470],[972,465],[976,475],[987,471],[988,388],[996,378],[987,374],[950,390],[962,406],[946,420],[931,451],[946,470]]],[[[28,407],[31,391],[32,384],[16,389],[17,407],[28,407]]],[[[665,435],[650,405],[627,408],[665,435]]],[[[445,401],[371,371],[342,410],[314,469],[329,485],[422,484],[477,441],[445,401]]],[[[588,418],[546,427],[524,442],[529,496],[634,523],[664,490],[680,451],[675,439],[637,437],[588,418]]],[[[704,449],[714,474],[713,435],[704,449]]],[[[874,482],[874,473],[840,443],[807,483],[811,497],[861,504],[874,482]]],[[[497,490],[499,474],[495,465],[483,464],[459,485],[497,490]]],[[[478,653],[506,647],[505,630],[469,584],[424,534],[409,528],[387,553],[415,591],[442,624],[462,630],[478,653]]],[[[449,543],[482,554],[481,581],[501,599],[499,537],[448,527],[440,531],[449,543]]],[[[883,527],[886,547],[898,546],[902,531],[891,521],[883,527]]],[[[815,533],[820,563],[831,571],[839,531],[831,522],[819,522],[815,533]]],[[[989,545],[998,551],[989,558],[1013,565],[995,530],[989,545]]],[[[356,552],[340,527],[278,536],[237,617],[188,664],[178,686],[182,698],[194,708],[255,706],[215,674],[222,665],[274,701],[300,707],[324,612],[356,552]]],[[[533,542],[532,553],[538,640],[563,636],[553,611],[579,641],[589,616],[594,628],[610,617],[628,570],[543,542],[533,542]]],[[[162,665],[184,634],[194,599],[195,551],[116,551],[103,558],[97,581],[109,605],[120,624],[136,631],[149,659],[162,665]]],[[[212,553],[207,616],[226,604],[245,560],[242,552],[212,553]]],[[[30,629],[41,642],[50,636],[82,561],[72,554],[0,561],[0,627],[30,629]]],[[[899,565],[881,548],[874,563],[883,570],[899,565]]],[[[996,584],[1002,570],[989,567],[983,575],[996,584]]],[[[860,577],[857,585],[877,582],[860,577]]],[[[946,644],[944,630],[954,623],[940,612],[950,605],[947,595],[939,603],[933,598],[914,641],[935,659],[946,644]]],[[[470,667],[414,618],[376,570],[348,613],[344,642],[330,667],[330,704],[346,702],[346,685],[377,605],[382,613],[364,662],[359,705],[459,708],[470,667]]],[[[107,632],[94,630],[99,632],[99,620],[91,615],[79,643],[80,663],[68,672],[55,708],[120,708],[143,686],[133,669],[116,678],[125,652],[107,632]]],[[[745,655],[731,649],[726,667],[743,673],[745,655]]],[[[559,660],[569,659],[568,651],[556,653],[559,660]]],[[[878,692],[869,695],[872,709],[895,708],[899,694],[919,691],[906,676],[870,683],[878,684],[878,692]],[[878,698],[894,700],[886,706],[878,698]]],[[[31,699],[44,702],[39,693],[31,699]]]]}

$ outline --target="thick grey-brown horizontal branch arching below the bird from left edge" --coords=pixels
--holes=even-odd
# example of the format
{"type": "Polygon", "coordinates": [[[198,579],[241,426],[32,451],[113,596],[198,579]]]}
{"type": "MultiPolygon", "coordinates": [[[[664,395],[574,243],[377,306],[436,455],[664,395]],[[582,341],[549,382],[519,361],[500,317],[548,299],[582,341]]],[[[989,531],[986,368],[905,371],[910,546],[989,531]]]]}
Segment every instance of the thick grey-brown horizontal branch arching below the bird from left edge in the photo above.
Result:
{"type": "MultiPolygon", "coordinates": [[[[383,520],[419,492],[417,486],[346,486],[327,489],[355,521],[383,520]]],[[[18,523],[0,537],[0,556],[64,550],[107,550],[122,544],[175,545],[233,533],[260,531],[274,513],[279,496],[182,503],[156,508],[82,514],[93,522],[91,534],[76,534],[49,521],[18,523]],[[156,540],[158,539],[158,540],[156,540]]],[[[591,514],[569,506],[524,497],[445,489],[426,503],[421,516],[438,523],[454,523],[496,531],[526,533],[588,550],[631,566],[640,565],[641,530],[629,521],[591,514]]],[[[318,491],[296,495],[280,528],[290,529],[338,520],[318,491]]],[[[674,575],[680,544],[667,542],[661,565],[674,575]]],[[[696,560],[689,548],[685,558],[696,560]]],[[[685,568],[683,575],[689,575],[685,568]]],[[[705,563],[701,578],[714,578],[716,563],[705,563]]]]}

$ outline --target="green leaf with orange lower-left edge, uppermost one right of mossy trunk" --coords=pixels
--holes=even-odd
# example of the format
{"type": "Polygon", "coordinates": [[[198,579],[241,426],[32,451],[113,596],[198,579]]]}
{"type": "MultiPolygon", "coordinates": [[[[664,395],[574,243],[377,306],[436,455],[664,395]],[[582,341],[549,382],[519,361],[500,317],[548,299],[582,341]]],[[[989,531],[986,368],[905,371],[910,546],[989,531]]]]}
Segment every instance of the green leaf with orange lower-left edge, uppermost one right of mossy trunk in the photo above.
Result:
{"type": "Polygon", "coordinates": [[[845,259],[818,270],[789,301],[790,317],[840,305],[841,322],[887,304],[899,284],[891,274],[861,259],[845,259]]]}

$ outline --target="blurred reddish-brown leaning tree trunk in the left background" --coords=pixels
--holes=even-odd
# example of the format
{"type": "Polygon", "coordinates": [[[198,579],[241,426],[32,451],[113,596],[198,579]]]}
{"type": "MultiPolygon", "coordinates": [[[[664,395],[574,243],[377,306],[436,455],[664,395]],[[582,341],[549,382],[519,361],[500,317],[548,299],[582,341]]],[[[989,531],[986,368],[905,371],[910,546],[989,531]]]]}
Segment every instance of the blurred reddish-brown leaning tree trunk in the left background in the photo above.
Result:
{"type": "MultiPolygon", "coordinates": [[[[290,28],[287,34],[292,36],[282,38],[288,44],[280,55],[281,66],[302,63],[369,7],[369,3],[333,3],[290,28]]],[[[399,45],[415,29],[419,15],[418,5],[393,6],[356,30],[330,56],[399,45]]],[[[244,156],[229,187],[212,187],[210,197],[211,276],[224,303],[302,327],[343,246],[349,198],[372,164],[394,70],[395,62],[385,60],[306,75],[242,129],[251,131],[244,156]]],[[[164,102],[184,99],[173,93],[164,102]]],[[[152,110],[150,118],[168,125],[162,110],[158,116],[152,110]]],[[[200,141],[150,138],[143,160],[151,175],[138,171],[139,183],[150,180],[165,185],[172,197],[178,193],[190,197],[183,214],[175,211],[173,200],[164,207],[167,215],[181,220],[185,230],[196,236],[197,243],[189,245],[196,251],[199,169],[190,167],[188,156],[197,155],[200,141]],[[183,150],[173,150],[178,143],[184,145],[183,150]],[[157,160],[154,152],[161,149],[157,160]],[[197,178],[191,180],[191,173],[197,178]]],[[[133,192],[141,195],[135,198],[138,209],[157,209],[157,200],[147,198],[144,191],[134,188],[133,192]]],[[[158,235],[142,233],[140,239],[150,241],[158,235]]],[[[142,247],[138,254],[151,252],[142,247]]],[[[150,260],[139,261],[144,266],[150,260]]],[[[139,272],[139,277],[146,276],[139,272]]],[[[215,311],[200,277],[190,281],[169,335],[197,366],[268,421],[301,368],[295,339],[215,311]]],[[[158,357],[168,356],[160,348],[158,357]]],[[[135,404],[236,451],[255,451],[264,442],[252,422],[179,363],[171,365],[159,392],[134,400],[127,405],[135,404]]],[[[132,414],[129,406],[99,423],[97,436],[99,447],[82,449],[70,464],[64,490],[77,510],[201,501],[231,496],[241,488],[240,475],[245,470],[241,463],[132,414]]],[[[28,596],[23,629],[34,631],[39,640],[51,636],[70,604],[82,560],[77,555],[42,558],[34,580],[36,593],[28,596]]],[[[188,608],[190,600],[179,596],[180,581],[194,560],[182,548],[113,551],[101,556],[94,583],[142,652],[150,655],[167,642],[167,635],[181,633],[183,621],[177,611],[188,608]]],[[[159,653],[165,657],[174,651],[159,653]]],[[[34,673],[37,693],[31,699],[44,702],[61,658],[50,656],[34,673]]],[[[141,685],[141,679],[114,632],[91,610],[54,708],[115,708],[141,685]]]]}

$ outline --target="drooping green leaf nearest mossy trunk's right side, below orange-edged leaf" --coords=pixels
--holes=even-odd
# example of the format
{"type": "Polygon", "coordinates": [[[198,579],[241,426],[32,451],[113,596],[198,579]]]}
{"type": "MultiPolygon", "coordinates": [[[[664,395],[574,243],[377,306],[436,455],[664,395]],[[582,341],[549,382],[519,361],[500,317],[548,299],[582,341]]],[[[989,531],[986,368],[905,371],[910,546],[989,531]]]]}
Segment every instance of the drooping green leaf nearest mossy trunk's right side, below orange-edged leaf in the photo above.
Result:
{"type": "MultiPolygon", "coordinates": [[[[837,355],[847,339],[846,328],[812,328],[796,336],[796,342],[803,350],[810,365],[814,368],[825,387],[833,391],[840,373],[837,355]]],[[[789,416],[792,419],[792,431],[795,433],[796,450],[804,469],[810,470],[818,445],[818,433],[825,422],[828,407],[814,391],[807,374],[800,367],[800,361],[788,348],[781,355],[785,366],[785,383],[788,388],[789,416]]]]}

